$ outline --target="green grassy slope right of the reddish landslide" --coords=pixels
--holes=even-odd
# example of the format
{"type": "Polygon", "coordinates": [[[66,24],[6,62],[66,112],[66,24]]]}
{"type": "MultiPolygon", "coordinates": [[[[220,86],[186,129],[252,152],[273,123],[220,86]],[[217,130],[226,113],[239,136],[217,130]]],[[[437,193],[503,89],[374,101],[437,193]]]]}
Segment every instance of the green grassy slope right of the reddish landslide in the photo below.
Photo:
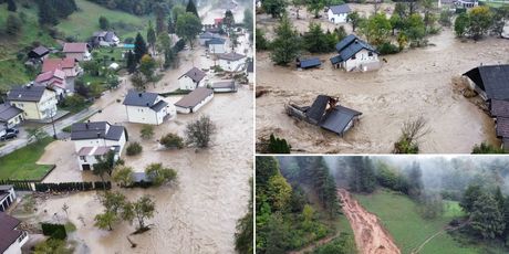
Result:
{"type": "MultiPolygon", "coordinates": [[[[409,253],[426,239],[443,230],[448,222],[463,215],[457,202],[447,201],[440,218],[424,220],[417,212],[417,205],[406,195],[381,190],[375,194],[355,198],[370,212],[375,213],[391,232],[402,253],[409,253]]],[[[420,254],[469,254],[485,253],[478,246],[461,246],[447,233],[434,237],[420,254]]]]}

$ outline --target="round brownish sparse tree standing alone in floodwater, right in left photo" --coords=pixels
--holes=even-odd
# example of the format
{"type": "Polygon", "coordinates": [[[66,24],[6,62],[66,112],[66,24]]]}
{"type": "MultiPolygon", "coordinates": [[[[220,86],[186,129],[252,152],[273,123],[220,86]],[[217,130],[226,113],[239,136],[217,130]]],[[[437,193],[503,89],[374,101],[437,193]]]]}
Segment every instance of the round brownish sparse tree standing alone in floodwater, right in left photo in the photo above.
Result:
{"type": "Polygon", "coordinates": [[[186,126],[187,144],[198,148],[207,148],[214,134],[216,134],[216,125],[209,116],[202,115],[186,126]]]}

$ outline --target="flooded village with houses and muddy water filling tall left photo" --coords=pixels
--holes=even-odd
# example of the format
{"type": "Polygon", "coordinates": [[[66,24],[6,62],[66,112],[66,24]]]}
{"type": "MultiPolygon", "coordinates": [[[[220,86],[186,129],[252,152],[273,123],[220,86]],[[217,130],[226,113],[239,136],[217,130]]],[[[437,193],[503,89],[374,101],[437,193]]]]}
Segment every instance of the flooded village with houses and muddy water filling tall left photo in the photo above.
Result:
{"type": "MultiPolygon", "coordinates": [[[[114,22],[118,14],[132,14],[122,12],[126,7],[112,12],[92,2],[97,1],[77,0],[80,10],[70,19],[87,8],[111,12],[101,15],[110,19],[110,31],[90,34],[97,45],[58,40],[64,52],[58,46],[48,52],[33,50],[43,54],[30,59],[35,65],[45,67],[59,57],[62,62],[41,73],[48,76],[41,77],[43,82],[9,84],[13,88],[2,96],[0,115],[9,119],[0,117],[0,134],[6,137],[0,142],[0,200],[4,205],[0,227],[9,237],[1,237],[0,251],[236,253],[239,220],[248,214],[252,193],[254,151],[251,138],[246,137],[253,136],[253,24],[252,17],[245,18],[251,14],[252,3],[160,1],[162,6],[150,7],[154,12],[165,9],[156,19],[148,10],[139,14],[154,20],[144,21],[148,27],[138,31],[146,54],[129,70],[139,40],[136,33],[114,31],[118,28],[114,22]],[[156,43],[150,42],[150,28],[156,30],[156,43]],[[126,38],[131,41],[125,42],[126,38]],[[80,52],[65,52],[69,46],[80,52]],[[117,51],[122,59],[113,61],[117,51]],[[90,71],[94,68],[91,63],[101,63],[103,52],[115,56],[106,54],[104,66],[96,72],[115,68],[115,85],[105,81],[108,88],[85,98],[86,106],[77,110],[70,108],[83,103],[81,98],[62,106],[66,98],[81,95],[79,80],[84,77],[85,87],[91,88],[94,78],[100,78],[101,74],[89,77],[95,72],[90,71]],[[77,71],[72,78],[64,70],[71,57],[75,61],[67,65],[77,71]],[[31,102],[44,107],[35,109],[44,115],[40,119],[30,118],[31,102]],[[104,171],[106,168],[113,172],[104,171]],[[116,215],[106,204],[106,192],[123,197],[116,215]],[[144,198],[148,200],[142,202],[144,198]],[[9,222],[6,226],[4,221],[9,222]],[[65,225],[66,237],[52,242],[55,236],[46,230],[59,225],[65,225]]],[[[10,8],[0,7],[6,12],[10,8]]],[[[21,4],[18,11],[31,13],[21,4]]],[[[94,30],[104,29],[101,19],[90,22],[94,30]]]]}

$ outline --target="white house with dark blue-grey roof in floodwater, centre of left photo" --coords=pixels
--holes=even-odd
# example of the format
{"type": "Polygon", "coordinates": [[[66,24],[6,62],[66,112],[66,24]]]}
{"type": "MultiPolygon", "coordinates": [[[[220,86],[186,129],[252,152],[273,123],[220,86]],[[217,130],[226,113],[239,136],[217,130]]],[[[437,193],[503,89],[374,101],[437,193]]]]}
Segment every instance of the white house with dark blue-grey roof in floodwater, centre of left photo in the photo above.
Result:
{"type": "Polygon", "coordinates": [[[131,89],[125,96],[124,105],[129,123],[160,125],[165,119],[177,115],[175,106],[155,93],[131,89]]]}

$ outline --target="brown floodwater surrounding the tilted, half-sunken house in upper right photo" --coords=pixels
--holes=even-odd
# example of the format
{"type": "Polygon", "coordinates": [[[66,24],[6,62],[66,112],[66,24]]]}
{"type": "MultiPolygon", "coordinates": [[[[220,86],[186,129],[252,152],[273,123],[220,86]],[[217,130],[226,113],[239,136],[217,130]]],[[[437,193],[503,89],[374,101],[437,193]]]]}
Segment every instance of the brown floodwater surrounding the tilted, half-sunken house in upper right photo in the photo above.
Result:
{"type": "Polygon", "coordinates": [[[269,91],[257,98],[257,137],[274,134],[304,152],[386,154],[404,121],[423,116],[430,133],[419,140],[420,152],[470,152],[486,140],[498,145],[494,120],[454,89],[451,78],[479,64],[507,63],[509,41],[460,42],[445,29],[429,43],[383,56],[387,63],[368,73],[334,70],[334,53],[316,55],[322,67],[308,71],[274,66],[268,53],[257,53],[257,88],[269,91]],[[319,94],[363,113],[343,138],[285,115],[284,104],[311,104],[319,94]]]}

